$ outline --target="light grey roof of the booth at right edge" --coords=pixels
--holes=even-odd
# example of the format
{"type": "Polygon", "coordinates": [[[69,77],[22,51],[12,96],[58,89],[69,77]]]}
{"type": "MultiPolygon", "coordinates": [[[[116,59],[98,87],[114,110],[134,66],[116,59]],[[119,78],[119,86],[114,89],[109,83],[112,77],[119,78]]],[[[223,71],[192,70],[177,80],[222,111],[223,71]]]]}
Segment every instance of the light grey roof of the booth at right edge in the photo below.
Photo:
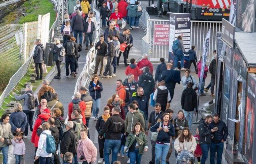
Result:
{"type": "Polygon", "coordinates": [[[235,43],[248,67],[256,67],[256,32],[236,32],[235,43]]]}

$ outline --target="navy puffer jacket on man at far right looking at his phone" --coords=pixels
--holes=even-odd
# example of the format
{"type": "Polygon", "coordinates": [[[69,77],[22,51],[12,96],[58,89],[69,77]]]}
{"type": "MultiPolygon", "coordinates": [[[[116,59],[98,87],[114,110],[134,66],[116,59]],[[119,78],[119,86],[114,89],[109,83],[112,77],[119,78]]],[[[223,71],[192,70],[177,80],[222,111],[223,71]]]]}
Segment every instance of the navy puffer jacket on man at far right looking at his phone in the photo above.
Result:
{"type": "Polygon", "coordinates": [[[221,143],[221,140],[226,141],[227,140],[227,134],[228,134],[228,129],[225,124],[225,122],[219,120],[217,124],[215,124],[213,121],[209,125],[210,129],[213,129],[214,127],[218,126],[218,130],[216,132],[213,132],[213,138],[211,141],[213,143],[221,143]],[[224,132],[224,134],[223,134],[224,132]]]}

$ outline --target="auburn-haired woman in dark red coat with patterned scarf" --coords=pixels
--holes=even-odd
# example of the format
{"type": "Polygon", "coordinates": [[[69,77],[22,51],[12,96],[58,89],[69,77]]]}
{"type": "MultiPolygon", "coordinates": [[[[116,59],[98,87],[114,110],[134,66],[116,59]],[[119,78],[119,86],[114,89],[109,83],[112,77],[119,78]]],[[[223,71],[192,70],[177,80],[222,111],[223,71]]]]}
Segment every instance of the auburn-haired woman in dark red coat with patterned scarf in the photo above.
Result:
{"type": "MultiPolygon", "coordinates": [[[[108,99],[107,101],[107,106],[109,107],[110,111],[114,108],[117,107],[119,109],[119,114],[120,117],[125,120],[125,114],[124,114],[124,109],[123,109],[123,100],[119,98],[118,94],[113,94],[111,98],[108,99]]],[[[112,116],[110,112],[110,116],[112,116]]]]}

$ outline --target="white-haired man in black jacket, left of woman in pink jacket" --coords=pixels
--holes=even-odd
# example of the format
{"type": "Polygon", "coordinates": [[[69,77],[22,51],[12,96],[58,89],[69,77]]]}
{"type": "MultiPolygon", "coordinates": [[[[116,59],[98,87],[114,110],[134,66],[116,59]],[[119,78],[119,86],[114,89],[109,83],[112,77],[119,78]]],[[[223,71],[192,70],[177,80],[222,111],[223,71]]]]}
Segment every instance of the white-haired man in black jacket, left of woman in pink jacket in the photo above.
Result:
{"type": "Polygon", "coordinates": [[[71,152],[74,155],[73,161],[75,161],[75,164],[78,164],[78,159],[77,159],[78,137],[74,132],[73,126],[74,126],[74,123],[72,121],[68,121],[66,124],[67,132],[63,134],[63,138],[60,142],[60,157],[63,158],[63,155],[66,152],[71,152]]]}

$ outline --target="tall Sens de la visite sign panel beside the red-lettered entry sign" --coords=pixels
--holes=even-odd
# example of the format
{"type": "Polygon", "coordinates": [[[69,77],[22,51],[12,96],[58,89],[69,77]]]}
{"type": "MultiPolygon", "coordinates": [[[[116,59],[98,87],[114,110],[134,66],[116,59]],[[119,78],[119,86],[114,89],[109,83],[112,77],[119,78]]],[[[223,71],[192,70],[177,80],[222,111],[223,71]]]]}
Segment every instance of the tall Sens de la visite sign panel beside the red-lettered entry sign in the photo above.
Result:
{"type": "Polygon", "coordinates": [[[174,63],[173,41],[181,35],[186,51],[190,48],[190,13],[170,13],[169,62],[174,63]]]}

